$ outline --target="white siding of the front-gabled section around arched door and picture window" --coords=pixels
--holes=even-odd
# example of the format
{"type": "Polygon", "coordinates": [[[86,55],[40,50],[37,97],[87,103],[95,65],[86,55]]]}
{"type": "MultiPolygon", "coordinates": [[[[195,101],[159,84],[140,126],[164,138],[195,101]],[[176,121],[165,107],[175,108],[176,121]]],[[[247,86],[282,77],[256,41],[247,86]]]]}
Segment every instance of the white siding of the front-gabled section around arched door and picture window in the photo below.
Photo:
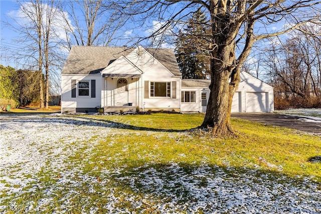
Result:
{"type": "MultiPolygon", "coordinates": [[[[138,49],[138,48],[137,48],[138,49]]],[[[159,63],[153,56],[148,52],[143,52],[142,55],[138,56],[136,50],[132,51],[126,56],[126,58],[132,63],[126,62],[124,59],[118,59],[114,61],[110,68],[114,71],[117,69],[117,73],[128,73],[132,70],[133,72],[141,72],[141,78],[125,78],[128,82],[128,102],[131,102],[134,106],[139,106],[148,109],[180,109],[180,98],[181,98],[181,78],[174,77],[173,73],[170,72],[162,63],[159,63]],[[114,64],[115,63],[115,64],[114,64]],[[120,63],[117,65],[117,63],[120,63]],[[133,64],[136,67],[133,67],[133,64]],[[150,82],[171,82],[171,97],[148,97],[144,98],[144,81],[150,82]],[[176,81],[176,98],[172,98],[172,82],[176,81]]],[[[108,73],[108,69],[105,69],[103,73],[108,73]]],[[[102,89],[102,105],[103,106],[115,106],[117,105],[117,80],[119,78],[104,78],[103,89],[102,89]]],[[[148,87],[148,91],[149,91],[148,87]]]]}

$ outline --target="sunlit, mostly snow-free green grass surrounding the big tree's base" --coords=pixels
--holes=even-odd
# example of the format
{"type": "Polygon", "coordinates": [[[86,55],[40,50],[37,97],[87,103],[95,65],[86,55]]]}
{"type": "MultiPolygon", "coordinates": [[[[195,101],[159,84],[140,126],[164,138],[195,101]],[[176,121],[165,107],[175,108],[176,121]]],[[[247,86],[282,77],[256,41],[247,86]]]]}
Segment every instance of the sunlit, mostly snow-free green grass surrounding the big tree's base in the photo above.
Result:
{"type": "Polygon", "coordinates": [[[102,139],[96,148],[92,161],[98,161],[99,157],[111,158],[104,164],[105,167],[169,162],[207,163],[224,167],[229,163],[229,166],[238,168],[258,165],[261,169],[281,171],[292,177],[321,177],[320,163],[308,161],[310,157],[321,155],[319,136],[238,119],[232,119],[238,135],[234,138],[213,138],[197,132],[184,132],[199,126],[203,115],[85,117],[113,122],[122,129],[102,139]]]}

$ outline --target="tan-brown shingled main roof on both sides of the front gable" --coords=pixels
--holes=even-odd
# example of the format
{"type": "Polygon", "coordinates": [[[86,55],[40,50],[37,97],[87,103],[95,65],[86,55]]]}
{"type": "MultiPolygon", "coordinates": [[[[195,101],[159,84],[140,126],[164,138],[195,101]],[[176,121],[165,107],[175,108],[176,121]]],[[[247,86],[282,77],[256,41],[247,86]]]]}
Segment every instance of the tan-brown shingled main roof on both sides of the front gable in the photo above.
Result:
{"type": "MultiPolygon", "coordinates": [[[[73,46],[62,69],[62,74],[97,74],[121,55],[127,56],[135,48],[73,46]]],[[[173,49],[146,48],[148,53],[174,75],[181,76],[173,49]]]]}

